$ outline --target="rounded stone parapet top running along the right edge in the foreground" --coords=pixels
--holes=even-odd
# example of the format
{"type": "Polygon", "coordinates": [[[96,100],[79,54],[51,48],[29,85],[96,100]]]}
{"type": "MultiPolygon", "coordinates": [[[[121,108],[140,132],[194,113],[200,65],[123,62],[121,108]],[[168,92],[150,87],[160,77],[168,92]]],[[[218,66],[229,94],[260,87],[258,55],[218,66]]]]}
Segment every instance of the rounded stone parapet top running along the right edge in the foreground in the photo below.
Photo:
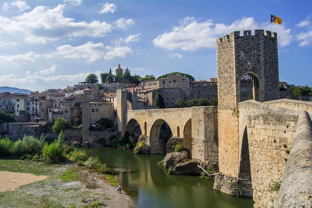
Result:
{"type": "Polygon", "coordinates": [[[275,208],[312,207],[312,123],[307,112],[299,115],[275,208]]]}

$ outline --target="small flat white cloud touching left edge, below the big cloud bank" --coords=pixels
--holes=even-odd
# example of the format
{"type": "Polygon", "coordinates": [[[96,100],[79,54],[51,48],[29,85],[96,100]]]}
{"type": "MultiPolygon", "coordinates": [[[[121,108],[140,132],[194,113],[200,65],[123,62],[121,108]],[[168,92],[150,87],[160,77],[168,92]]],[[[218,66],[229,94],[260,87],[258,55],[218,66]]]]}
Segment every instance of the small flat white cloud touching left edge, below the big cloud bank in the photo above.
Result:
{"type": "Polygon", "coordinates": [[[34,52],[7,56],[0,55],[0,62],[14,63],[16,65],[26,65],[31,62],[34,62],[39,57],[40,55],[35,54],[34,52]]]}

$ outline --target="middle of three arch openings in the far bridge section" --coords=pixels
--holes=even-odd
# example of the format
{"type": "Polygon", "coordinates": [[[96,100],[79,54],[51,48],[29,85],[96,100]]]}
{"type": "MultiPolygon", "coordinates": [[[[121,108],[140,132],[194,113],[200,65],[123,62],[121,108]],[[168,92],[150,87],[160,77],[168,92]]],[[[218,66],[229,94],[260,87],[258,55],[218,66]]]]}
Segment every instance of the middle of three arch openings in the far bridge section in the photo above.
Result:
{"type": "Polygon", "coordinates": [[[157,119],[150,131],[150,153],[166,153],[166,144],[171,137],[172,132],[167,122],[162,119],[157,119]]]}

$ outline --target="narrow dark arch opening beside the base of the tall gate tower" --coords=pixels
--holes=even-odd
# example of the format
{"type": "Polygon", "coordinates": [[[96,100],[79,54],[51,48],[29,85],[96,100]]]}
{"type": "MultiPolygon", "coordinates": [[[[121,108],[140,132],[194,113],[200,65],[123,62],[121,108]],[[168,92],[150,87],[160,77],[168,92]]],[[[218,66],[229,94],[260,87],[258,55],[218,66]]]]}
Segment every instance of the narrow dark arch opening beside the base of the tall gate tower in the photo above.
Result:
{"type": "Polygon", "coordinates": [[[240,163],[239,163],[238,177],[242,179],[251,180],[247,127],[245,127],[243,138],[242,138],[241,157],[240,157],[240,163]]]}

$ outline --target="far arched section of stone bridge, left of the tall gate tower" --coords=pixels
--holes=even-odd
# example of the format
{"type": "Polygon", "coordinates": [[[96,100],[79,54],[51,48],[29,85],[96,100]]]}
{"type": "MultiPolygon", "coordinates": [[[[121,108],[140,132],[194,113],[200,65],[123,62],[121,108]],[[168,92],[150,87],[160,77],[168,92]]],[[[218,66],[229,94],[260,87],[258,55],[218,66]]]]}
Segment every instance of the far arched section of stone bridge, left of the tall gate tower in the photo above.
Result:
{"type": "MultiPolygon", "coordinates": [[[[194,159],[216,160],[217,107],[191,107],[153,110],[129,110],[126,113],[126,131],[132,134],[139,125],[142,136],[150,147],[150,153],[165,153],[159,140],[160,128],[166,123],[171,130],[171,140],[180,139],[194,159]],[[203,141],[206,141],[203,145],[203,141]],[[207,148],[215,141],[214,151],[207,148]]],[[[210,148],[211,149],[211,148],[210,148]]]]}

